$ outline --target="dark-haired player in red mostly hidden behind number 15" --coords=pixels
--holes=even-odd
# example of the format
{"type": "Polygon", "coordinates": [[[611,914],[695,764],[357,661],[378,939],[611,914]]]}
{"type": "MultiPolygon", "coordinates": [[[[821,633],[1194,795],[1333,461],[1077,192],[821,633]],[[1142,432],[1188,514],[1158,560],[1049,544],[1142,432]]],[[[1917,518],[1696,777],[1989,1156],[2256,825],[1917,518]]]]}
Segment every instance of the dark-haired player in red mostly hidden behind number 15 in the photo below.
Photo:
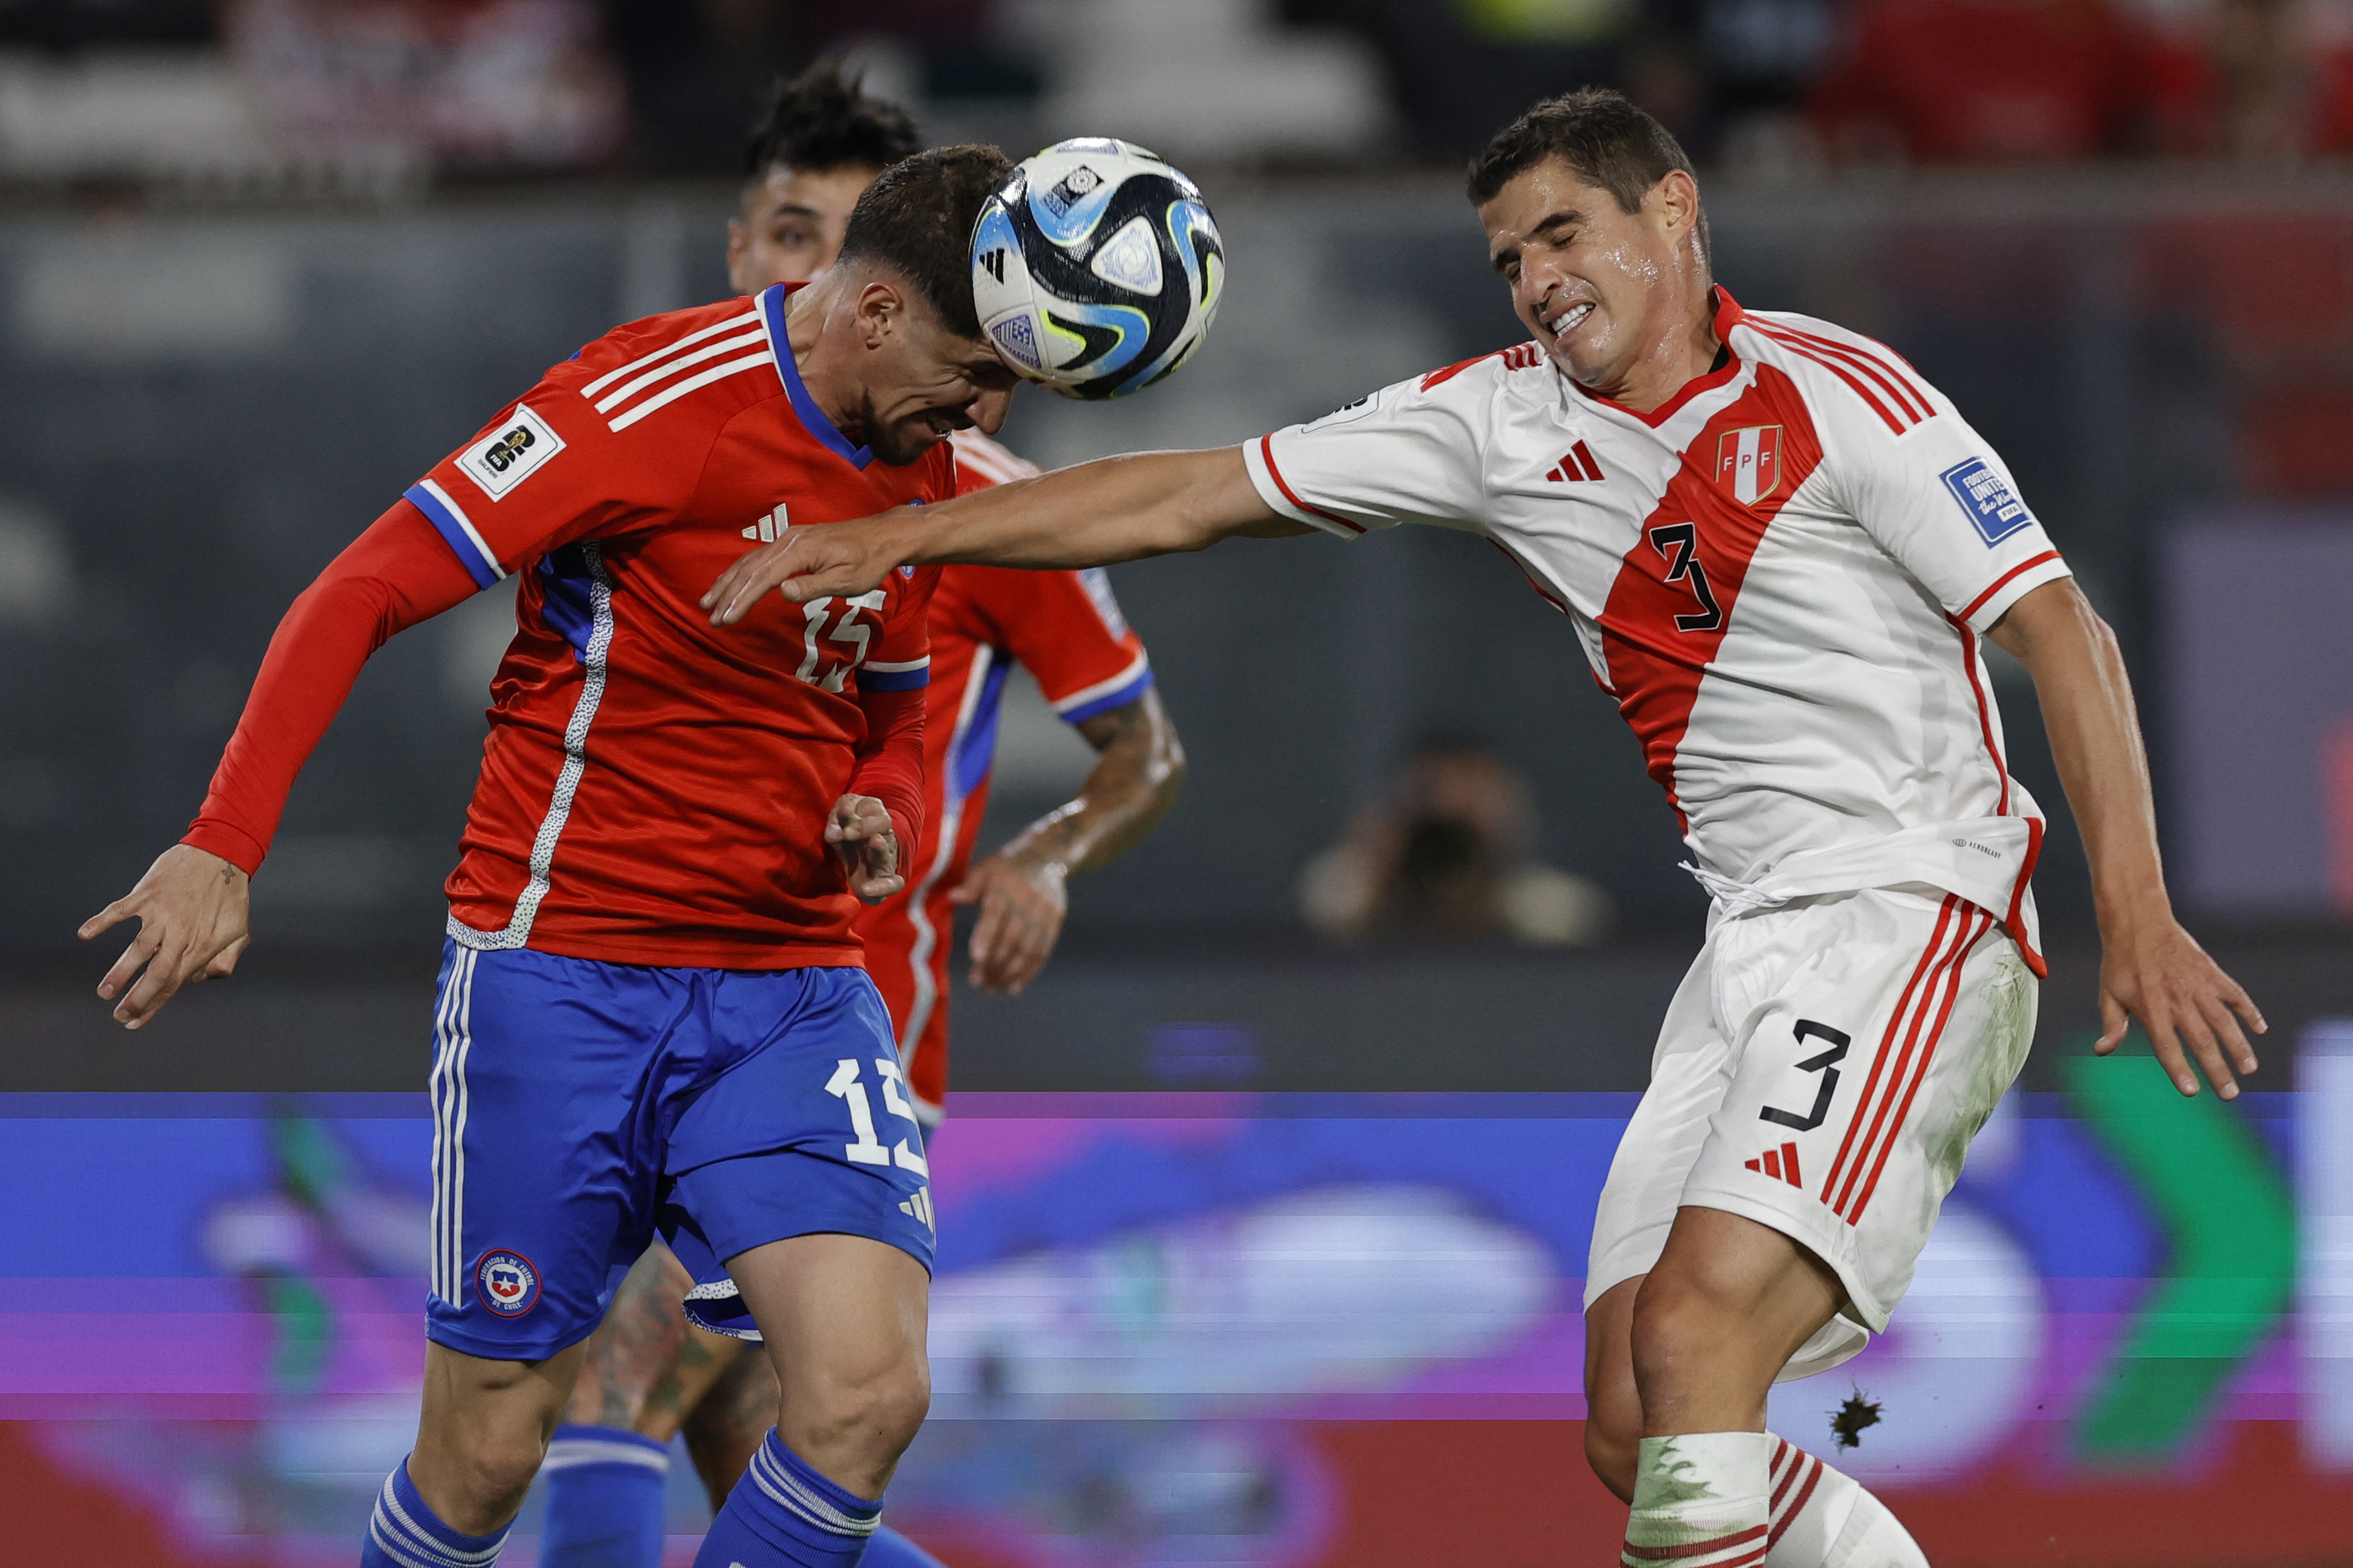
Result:
{"type": "MultiPolygon", "coordinates": [[[[781,85],[746,148],[744,214],[727,226],[736,292],[824,275],[859,195],[920,146],[906,113],[864,96],[833,61],[781,85]]],[[[948,440],[960,494],[1038,473],[976,430],[948,440]]],[[[1153,689],[1144,642],[1101,571],[948,567],[932,597],[929,635],[925,830],[908,860],[911,891],[856,919],[927,1138],[948,1088],[955,907],[979,912],[972,983],[1019,992],[1061,936],[1064,879],[1136,844],[1184,783],[1184,750],[1153,689]],[[1096,764],[1071,804],[974,865],[998,701],[1016,663],[1096,750],[1096,764]]],[[[774,1420],[767,1361],[744,1354],[746,1340],[687,1324],[680,1298],[692,1284],[654,1244],[588,1340],[567,1425],[548,1446],[544,1568],[656,1568],[671,1436],[685,1432],[715,1509],[774,1420]]],[[[932,1561],[889,1526],[875,1530],[864,1559],[866,1568],[932,1561]]]]}

